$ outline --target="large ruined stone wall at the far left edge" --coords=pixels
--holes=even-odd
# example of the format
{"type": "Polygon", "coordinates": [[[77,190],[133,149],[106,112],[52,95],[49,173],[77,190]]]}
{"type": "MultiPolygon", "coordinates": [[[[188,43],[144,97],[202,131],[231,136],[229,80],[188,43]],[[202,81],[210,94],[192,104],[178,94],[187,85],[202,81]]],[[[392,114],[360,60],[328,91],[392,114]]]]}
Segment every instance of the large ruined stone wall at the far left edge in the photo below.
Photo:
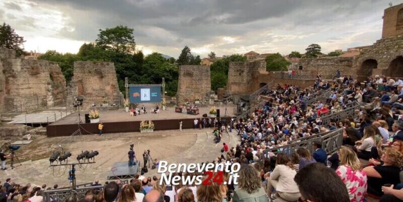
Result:
{"type": "Polygon", "coordinates": [[[0,110],[33,110],[65,104],[66,81],[60,67],[46,60],[17,57],[0,48],[0,110]]]}

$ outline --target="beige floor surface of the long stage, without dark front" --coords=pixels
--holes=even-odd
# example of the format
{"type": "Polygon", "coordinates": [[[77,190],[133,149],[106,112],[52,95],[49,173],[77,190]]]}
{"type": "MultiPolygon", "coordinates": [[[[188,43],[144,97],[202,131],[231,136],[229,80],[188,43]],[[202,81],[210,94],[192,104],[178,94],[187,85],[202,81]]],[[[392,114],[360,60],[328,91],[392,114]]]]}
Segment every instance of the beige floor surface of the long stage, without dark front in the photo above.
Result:
{"type": "MultiPolygon", "coordinates": [[[[147,106],[146,106],[147,107],[147,106]]],[[[220,109],[220,116],[225,116],[225,106],[217,107],[216,109],[220,109]]],[[[125,112],[123,109],[117,111],[100,111],[99,121],[102,123],[106,122],[127,122],[127,121],[148,121],[148,120],[168,120],[168,119],[194,119],[194,118],[203,118],[203,114],[208,114],[210,108],[203,107],[199,108],[198,115],[188,115],[184,113],[176,113],[174,107],[167,107],[165,111],[160,110],[158,114],[154,114],[151,112],[152,109],[147,108],[148,113],[130,116],[130,113],[125,112]]],[[[85,114],[88,114],[88,111],[80,112],[80,117],[83,122],[85,122],[85,114]]],[[[234,107],[227,106],[227,116],[234,116],[234,107]]],[[[75,112],[69,116],[66,116],[51,125],[65,125],[65,124],[77,124],[78,123],[78,112],[75,112]]]]}

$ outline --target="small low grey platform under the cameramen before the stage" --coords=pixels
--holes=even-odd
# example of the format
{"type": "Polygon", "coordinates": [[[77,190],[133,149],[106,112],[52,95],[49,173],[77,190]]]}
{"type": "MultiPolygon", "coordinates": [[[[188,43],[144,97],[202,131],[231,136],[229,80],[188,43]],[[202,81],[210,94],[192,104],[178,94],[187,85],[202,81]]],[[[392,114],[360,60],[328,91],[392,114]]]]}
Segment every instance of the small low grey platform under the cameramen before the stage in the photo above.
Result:
{"type": "Polygon", "coordinates": [[[106,177],[107,180],[134,178],[135,174],[140,171],[139,163],[141,162],[135,161],[135,163],[136,165],[131,167],[128,166],[128,161],[114,163],[108,176],[106,177]]]}

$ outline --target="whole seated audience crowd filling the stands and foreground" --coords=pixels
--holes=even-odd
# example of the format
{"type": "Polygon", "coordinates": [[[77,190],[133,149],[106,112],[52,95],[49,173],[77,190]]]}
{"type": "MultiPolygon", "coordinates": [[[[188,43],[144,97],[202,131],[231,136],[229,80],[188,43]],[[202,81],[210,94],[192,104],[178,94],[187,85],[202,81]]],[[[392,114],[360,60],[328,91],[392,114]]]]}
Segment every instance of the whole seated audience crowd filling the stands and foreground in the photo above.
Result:
{"type": "MultiPolygon", "coordinates": [[[[90,190],[85,197],[74,193],[66,201],[347,202],[366,201],[366,197],[403,201],[403,120],[395,105],[403,98],[402,81],[369,78],[362,85],[351,77],[338,77],[331,82],[318,77],[312,88],[304,90],[277,85],[264,92],[270,99],[263,107],[255,108],[248,117],[231,119],[229,131],[236,131],[240,143],[223,143],[223,154],[212,162],[240,163],[238,184],[210,180],[210,185],[171,186],[160,184],[157,176],[136,175],[127,184],[112,181],[102,190],[90,190]],[[308,105],[321,89],[330,90],[331,95],[308,105]],[[322,124],[323,116],[343,112],[352,102],[362,106],[354,116],[322,124]],[[317,140],[310,142],[312,150],[284,149],[290,141],[335,130],[343,133],[343,146],[335,153],[327,153],[317,140]]],[[[213,134],[219,143],[225,125],[207,118],[194,120],[195,129],[208,127],[215,127],[213,134]]],[[[224,172],[223,181],[230,175],[224,172]]],[[[3,185],[0,198],[6,195],[13,201],[37,201],[46,188],[13,187],[15,190],[3,185]],[[16,195],[21,196],[16,199],[16,195]]]]}

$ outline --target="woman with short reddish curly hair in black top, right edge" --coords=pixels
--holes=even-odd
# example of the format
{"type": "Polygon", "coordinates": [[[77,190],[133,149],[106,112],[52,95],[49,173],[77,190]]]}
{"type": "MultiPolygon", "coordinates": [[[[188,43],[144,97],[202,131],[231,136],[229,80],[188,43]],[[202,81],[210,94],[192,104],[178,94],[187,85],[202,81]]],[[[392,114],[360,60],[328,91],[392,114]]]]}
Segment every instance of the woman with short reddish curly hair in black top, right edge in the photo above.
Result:
{"type": "Polygon", "coordinates": [[[381,196],[381,186],[384,184],[400,183],[400,167],[403,165],[403,155],[392,147],[386,147],[381,156],[382,165],[367,166],[363,170],[368,176],[367,192],[381,196]]]}

